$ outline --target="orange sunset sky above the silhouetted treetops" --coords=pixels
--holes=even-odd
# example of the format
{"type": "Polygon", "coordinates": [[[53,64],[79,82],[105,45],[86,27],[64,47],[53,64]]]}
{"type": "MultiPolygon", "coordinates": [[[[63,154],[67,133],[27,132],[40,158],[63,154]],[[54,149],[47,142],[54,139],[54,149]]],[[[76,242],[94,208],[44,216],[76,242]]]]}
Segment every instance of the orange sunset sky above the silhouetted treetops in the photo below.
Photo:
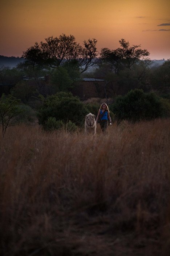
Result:
{"type": "Polygon", "coordinates": [[[0,55],[21,57],[49,36],[97,39],[97,50],[124,38],[151,59],[170,59],[170,0],[1,0],[0,55]]]}

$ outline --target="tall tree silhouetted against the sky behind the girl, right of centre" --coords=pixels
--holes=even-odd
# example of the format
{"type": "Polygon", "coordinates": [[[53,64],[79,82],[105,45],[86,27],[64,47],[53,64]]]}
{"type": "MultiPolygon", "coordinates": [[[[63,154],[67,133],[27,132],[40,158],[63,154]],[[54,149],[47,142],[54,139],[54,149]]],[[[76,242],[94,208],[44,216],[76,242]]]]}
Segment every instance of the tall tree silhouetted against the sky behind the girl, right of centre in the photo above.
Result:
{"type": "Polygon", "coordinates": [[[149,52],[139,49],[140,45],[130,46],[125,39],[119,42],[120,47],[116,50],[101,49],[96,74],[102,75],[106,89],[112,88],[114,96],[135,88],[148,90],[149,52]]]}

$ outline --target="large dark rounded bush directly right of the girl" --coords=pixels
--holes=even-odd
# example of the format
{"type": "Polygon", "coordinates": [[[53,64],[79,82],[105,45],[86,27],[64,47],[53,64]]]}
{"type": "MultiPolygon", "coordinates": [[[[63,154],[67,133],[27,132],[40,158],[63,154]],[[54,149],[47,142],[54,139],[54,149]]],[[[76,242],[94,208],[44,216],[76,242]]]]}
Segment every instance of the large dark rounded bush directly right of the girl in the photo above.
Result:
{"type": "Polygon", "coordinates": [[[118,120],[151,120],[165,116],[160,98],[154,93],[144,93],[141,89],[118,96],[110,108],[118,120]]]}

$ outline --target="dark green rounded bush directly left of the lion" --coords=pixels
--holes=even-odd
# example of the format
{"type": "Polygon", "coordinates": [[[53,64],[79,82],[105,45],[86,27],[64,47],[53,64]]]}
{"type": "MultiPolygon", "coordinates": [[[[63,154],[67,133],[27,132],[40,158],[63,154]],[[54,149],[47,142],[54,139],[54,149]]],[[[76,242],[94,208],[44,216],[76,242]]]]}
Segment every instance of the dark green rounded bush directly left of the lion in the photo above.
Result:
{"type": "Polygon", "coordinates": [[[48,117],[55,117],[64,123],[70,120],[76,125],[82,125],[87,113],[88,110],[78,97],[70,92],[58,92],[44,100],[37,116],[40,124],[44,124],[48,117]]]}

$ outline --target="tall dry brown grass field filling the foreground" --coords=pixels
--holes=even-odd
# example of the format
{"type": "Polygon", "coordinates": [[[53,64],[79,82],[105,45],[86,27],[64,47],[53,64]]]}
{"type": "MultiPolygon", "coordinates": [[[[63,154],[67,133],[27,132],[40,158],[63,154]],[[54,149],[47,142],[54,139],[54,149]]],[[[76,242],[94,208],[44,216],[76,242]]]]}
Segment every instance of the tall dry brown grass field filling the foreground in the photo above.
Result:
{"type": "Polygon", "coordinates": [[[107,135],[8,128],[0,145],[0,254],[166,255],[170,120],[107,135]]]}

